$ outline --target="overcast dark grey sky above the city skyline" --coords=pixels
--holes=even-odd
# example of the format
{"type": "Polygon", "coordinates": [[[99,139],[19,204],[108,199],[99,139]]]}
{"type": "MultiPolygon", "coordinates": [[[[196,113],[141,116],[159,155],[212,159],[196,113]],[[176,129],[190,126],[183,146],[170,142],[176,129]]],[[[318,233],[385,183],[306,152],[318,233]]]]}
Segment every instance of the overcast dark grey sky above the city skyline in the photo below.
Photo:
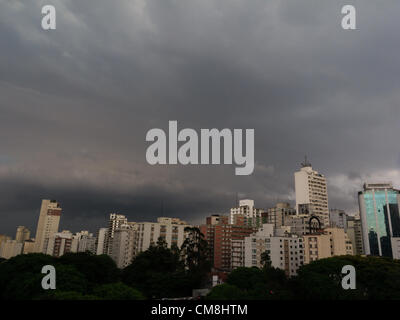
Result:
{"type": "Polygon", "coordinates": [[[355,212],[364,181],[400,184],[399,17],[391,0],[0,0],[0,233],[34,233],[42,198],[60,229],[92,232],[162,202],[200,223],[236,193],[293,201],[305,154],[330,207],[355,212]],[[169,120],[254,128],[254,173],[148,165],[146,133],[169,120]]]}

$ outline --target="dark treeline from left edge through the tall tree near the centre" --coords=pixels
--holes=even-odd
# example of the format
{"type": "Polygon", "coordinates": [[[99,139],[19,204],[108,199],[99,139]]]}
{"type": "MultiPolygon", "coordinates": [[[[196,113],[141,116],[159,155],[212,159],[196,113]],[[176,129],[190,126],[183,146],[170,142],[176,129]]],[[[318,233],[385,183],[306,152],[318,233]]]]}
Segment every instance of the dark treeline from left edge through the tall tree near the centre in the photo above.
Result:
{"type": "Polygon", "coordinates": [[[0,299],[138,300],[188,297],[206,285],[211,264],[207,243],[197,228],[188,228],[181,248],[163,240],[140,253],[125,269],[107,255],[67,253],[18,255],[0,260],[0,299]],[[42,267],[56,269],[56,289],[44,290],[42,267]]]}

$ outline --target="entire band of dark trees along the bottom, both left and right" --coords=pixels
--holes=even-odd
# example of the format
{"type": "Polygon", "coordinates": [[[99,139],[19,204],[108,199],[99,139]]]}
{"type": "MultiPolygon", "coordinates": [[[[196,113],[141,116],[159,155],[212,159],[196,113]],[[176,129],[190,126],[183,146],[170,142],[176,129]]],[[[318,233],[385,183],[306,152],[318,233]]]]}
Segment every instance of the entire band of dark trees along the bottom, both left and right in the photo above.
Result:
{"type": "MultiPolygon", "coordinates": [[[[181,249],[169,249],[159,241],[123,270],[110,257],[89,253],[70,253],[60,258],[28,254],[3,260],[0,299],[139,300],[190,296],[193,288],[206,285],[210,270],[206,247],[197,231],[192,232],[181,249]],[[56,268],[56,290],[41,287],[44,265],[56,268]]],[[[400,299],[400,261],[333,257],[301,267],[298,276],[290,279],[269,263],[263,269],[238,268],[206,299],[400,299]],[[341,286],[344,265],[356,269],[355,290],[343,290],[341,286]]]]}

